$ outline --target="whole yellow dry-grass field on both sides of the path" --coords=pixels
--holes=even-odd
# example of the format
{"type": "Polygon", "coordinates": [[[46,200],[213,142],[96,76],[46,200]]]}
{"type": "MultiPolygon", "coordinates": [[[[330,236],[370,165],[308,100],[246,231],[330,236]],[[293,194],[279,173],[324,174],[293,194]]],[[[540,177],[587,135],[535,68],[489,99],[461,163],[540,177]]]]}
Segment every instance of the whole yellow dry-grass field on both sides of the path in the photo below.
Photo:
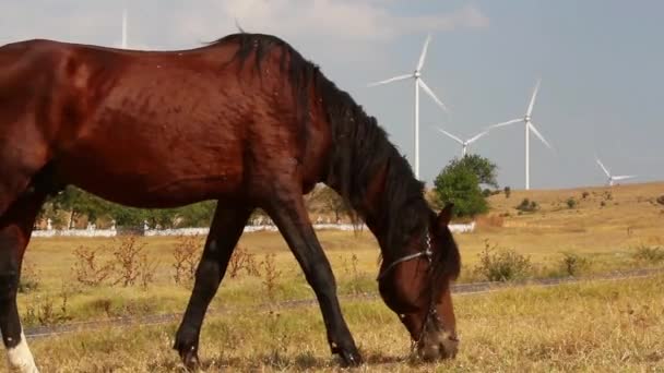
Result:
{"type": "MultiPolygon", "coordinates": [[[[577,253],[589,261],[581,275],[661,267],[664,263],[637,261],[633,253],[638,246],[663,246],[664,206],[655,202],[663,194],[664,183],[649,183],[612,189],[513,191],[509,198],[502,193],[494,195],[491,212],[478,220],[476,231],[455,236],[463,262],[460,281],[483,280],[474,269],[487,242],[529,256],[534,264],[532,276],[536,277],[559,276],[562,252],[577,253]],[[519,214],[514,206],[525,197],[536,201],[540,209],[519,214]],[[573,208],[568,207],[569,197],[576,201],[573,208]]],[[[321,231],[318,236],[333,264],[340,293],[376,291],[379,250],[369,232],[321,231]]],[[[178,241],[144,238],[140,242],[146,244],[149,257],[158,263],[154,280],[146,289],[88,287],[74,280],[74,250],[106,248],[98,253],[105,261],[115,245],[110,239],[34,239],[26,253],[24,277],[35,279],[37,287],[19,296],[24,325],[182,312],[191,282],[176,285],[173,279],[173,252],[178,241]]],[[[268,299],[312,298],[278,233],[247,233],[239,246],[254,255],[260,274],[250,276],[240,272],[236,278],[227,277],[211,305],[213,309],[224,305],[250,310],[268,299]],[[268,254],[274,254],[277,272],[272,288],[266,285],[264,265],[260,265],[270,260],[268,254]]],[[[659,316],[654,316],[664,306],[662,285],[659,277],[621,285],[460,296],[456,304],[464,335],[462,354],[454,363],[440,368],[519,371],[523,366],[550,371],[589,366],[592,371],[605,371],[621,362],[628,370],[655,366],[664,359],[663,326],[659,316]]],[[[412,368],[406,362],[390,362],[406,356],[407,337],[382,303],[348,303],[345,308],[356,338],[377,364],[374,368],[403,371],[412,368]]],[[[208,361],[211,371],[217,364],[259,371],[335,366],[324,346],[317,308],[283,311],[275,320],[245,312],[237,316],[237,322],[234,326],[229,318],[217,318],[204,326],[202,353],[212,359],[208,361]],[[252,326],[257,320],[261,320],[263,327],[252,326]],[[277,342],[285,347],[277,347],[277,342]]],[[[63,371],[76,371],[75,366],[81,371],[168,371],[175,369],[177,360],[175,351],[169,350],[175,327],[150,327],[129,334],[91,333],[84,336],[85,342],[74,336],[36,341],[36,353],[48,372],[57,371],[57,366],[63,366],[63,371]],[[133,336],[138,339],[132,340],[133,336]],[[143,351],[144,358],[139,358],[143,352],[132,349],[143,351]]]]}

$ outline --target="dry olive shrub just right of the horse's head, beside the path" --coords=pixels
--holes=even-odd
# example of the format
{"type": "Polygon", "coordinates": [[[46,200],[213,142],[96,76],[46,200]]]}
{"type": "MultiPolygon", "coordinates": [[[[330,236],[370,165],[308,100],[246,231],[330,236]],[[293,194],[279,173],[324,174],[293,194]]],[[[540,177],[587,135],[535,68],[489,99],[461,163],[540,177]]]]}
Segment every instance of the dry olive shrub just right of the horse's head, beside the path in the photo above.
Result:
{"type": "Polygon", "coordinates": [[[511,281],[526,278],[532,269],[531,260],[513,249],[498,248],[485,241],[484,250],[478,254],[479,264],[475,273],[489,281],[511,281]]]}

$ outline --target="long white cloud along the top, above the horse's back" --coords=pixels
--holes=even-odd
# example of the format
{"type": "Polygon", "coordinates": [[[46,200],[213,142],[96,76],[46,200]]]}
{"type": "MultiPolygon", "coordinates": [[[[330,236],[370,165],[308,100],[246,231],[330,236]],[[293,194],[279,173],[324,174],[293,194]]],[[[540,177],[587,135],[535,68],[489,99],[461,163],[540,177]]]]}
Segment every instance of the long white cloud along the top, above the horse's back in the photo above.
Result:
{"type": "MultiPolygon", "coordinates": [[[[130,40],[159,49],[191,46],[236,32],[271,33],[296,41],[361,44],[413,33],[486,27],[474,5],[412,15],[391,0],[145,0],[129,5],[130,40]]],[[[83,0],[3,1],[0,43],[55,38],[116,45],[122,4],[83,0]]],[[[415,8],[415,7],[414,7],[415,8]]],[[[416,8],[415,8],[416,9],[416,8]]]]}

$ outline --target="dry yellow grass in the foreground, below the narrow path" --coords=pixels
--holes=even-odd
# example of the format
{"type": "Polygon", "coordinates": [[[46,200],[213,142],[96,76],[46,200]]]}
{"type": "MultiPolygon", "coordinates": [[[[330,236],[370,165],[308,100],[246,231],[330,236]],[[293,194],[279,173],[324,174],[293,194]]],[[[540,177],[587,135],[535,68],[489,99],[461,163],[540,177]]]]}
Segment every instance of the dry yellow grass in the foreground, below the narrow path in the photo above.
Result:
{"type": "MultiPolygon", "coordinates": [[[[405,329],[381,302],[343,304],[371,372],[664,371],[664,276],[456,296],[458,358],[410,359],[405,329]]],[[[177,325],[108,329],[32,342],[45,372],[181,372],[177,325]]],[[[337,371],[318,308],[238,312],[203,327],[203,371],[337,371]]]]}

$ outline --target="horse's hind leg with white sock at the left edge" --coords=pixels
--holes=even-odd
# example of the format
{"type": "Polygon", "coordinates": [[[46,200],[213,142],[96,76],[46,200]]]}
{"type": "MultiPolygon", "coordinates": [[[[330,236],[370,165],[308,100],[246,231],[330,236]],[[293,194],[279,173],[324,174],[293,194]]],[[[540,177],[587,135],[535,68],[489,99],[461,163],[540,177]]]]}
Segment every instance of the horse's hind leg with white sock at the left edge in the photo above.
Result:
{"type": "Polygon", "coordinates": [[[0,329],[10,369],[23,373],[38,370],[21,327],[16,291],[23,254],[44,198],[42,193],[23,196],[0,217],[0,329]]]}

